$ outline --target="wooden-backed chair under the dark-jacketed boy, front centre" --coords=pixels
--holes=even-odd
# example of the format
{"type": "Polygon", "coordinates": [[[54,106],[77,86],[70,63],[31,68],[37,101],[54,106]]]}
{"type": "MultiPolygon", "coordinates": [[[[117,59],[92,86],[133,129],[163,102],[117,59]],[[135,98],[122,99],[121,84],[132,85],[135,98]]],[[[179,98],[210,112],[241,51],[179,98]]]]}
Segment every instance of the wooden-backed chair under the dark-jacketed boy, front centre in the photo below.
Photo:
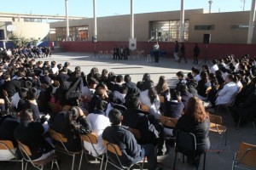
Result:
{"type": "Polygon", "coordinates": [[[121,152],[119,146],[118,146],[117,144],[109,143],[107,140],[103,140],[103,144],[104,144],[104,145],[106,146],[106,148],[107,148],[107,161],[106,161],[106,164],[105,164],[105,170],[107,169],[108,161],[109,161],[109,159],[110,159],[108,152],[112,153],[112,154],[114,155],[114,157],[115,157],[115,158],[117,159],[117,161],[118,161],[118,162],[117,162],[118,165],[115,164],[115,163],[113,163],[113,162],[111,163],[111,164],[113,165],[113,167],[116,167],[116,168],[118,168],[118,169],[128,169],[128,170],[129,170],[129,169],[131,169],[131,167],[133,167],[134,165],[139,164],[140,169],[143,170],[143,163],[144,163],[144,160],[145,160],[145,159],[143,159],[143,162],[138,161],[137,163],[131,164],[129,167],[125,167],[125,166],[123,166],[122,162],[121,162],[120,159],[119,159],[119,156],[122,156],[122,152],[121,152]]]}

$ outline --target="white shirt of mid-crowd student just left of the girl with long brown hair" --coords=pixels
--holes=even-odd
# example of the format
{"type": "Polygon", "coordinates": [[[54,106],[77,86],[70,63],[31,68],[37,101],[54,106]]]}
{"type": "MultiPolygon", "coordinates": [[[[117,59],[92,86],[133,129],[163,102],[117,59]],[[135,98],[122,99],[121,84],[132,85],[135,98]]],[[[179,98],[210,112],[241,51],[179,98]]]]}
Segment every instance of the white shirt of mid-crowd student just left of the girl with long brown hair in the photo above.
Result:
{"type": "Polygon", "coordinates": [[[153,104],[150,102],[150,99],[148,97],[148,90],[144,90],[143,92],[141,92],[139,99],[143,105],[148,105],[149,113],[154,115],[154,118],[160,119],[160,99],[158,95],[156,95],[156,99],[153,104]]]}

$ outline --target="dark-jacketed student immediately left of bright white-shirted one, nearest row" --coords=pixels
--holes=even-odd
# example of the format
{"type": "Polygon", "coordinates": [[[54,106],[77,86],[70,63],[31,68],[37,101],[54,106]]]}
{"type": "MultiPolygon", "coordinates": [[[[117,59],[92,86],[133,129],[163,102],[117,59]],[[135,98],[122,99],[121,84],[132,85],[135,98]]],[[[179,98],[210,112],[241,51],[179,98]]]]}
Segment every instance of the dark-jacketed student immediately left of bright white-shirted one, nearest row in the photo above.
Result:
{"type": "Polygon", "coordinates": [[[63,134],[67,138],[65,146],[69,151],[81,150],[81,140],[79,134],[91,133],[91,125],[84,112],[77,106],[73,106],[70,111],[61,111],[55,116],[53,130],[63,134]]]}

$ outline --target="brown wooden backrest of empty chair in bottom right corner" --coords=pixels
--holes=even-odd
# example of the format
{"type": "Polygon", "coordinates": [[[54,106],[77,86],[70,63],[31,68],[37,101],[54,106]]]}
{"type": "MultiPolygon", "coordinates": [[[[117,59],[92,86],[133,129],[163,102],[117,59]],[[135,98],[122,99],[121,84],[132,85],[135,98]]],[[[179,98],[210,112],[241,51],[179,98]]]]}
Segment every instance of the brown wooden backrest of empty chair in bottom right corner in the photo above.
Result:
{"type": "Polygon", "coordinates": [[[256,167],[256,145],[241,142],[236,155],[236,161],[249,167],[256,167]]]}

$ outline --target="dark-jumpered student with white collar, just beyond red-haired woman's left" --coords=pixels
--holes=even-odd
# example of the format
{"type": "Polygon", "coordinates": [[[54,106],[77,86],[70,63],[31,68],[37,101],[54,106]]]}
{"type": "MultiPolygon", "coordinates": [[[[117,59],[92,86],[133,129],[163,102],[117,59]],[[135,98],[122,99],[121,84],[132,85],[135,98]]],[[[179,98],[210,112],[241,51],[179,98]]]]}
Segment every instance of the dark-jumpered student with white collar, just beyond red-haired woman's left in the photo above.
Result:
{"type": "Polygon", "coordinates": [[[168,101],[165,99],[166,112],[164,112],[164,116],[172,118],[179,118],[182,116],[184,105],[181,99],[179,91],[172,89],[171,100],[168,101]]]}

